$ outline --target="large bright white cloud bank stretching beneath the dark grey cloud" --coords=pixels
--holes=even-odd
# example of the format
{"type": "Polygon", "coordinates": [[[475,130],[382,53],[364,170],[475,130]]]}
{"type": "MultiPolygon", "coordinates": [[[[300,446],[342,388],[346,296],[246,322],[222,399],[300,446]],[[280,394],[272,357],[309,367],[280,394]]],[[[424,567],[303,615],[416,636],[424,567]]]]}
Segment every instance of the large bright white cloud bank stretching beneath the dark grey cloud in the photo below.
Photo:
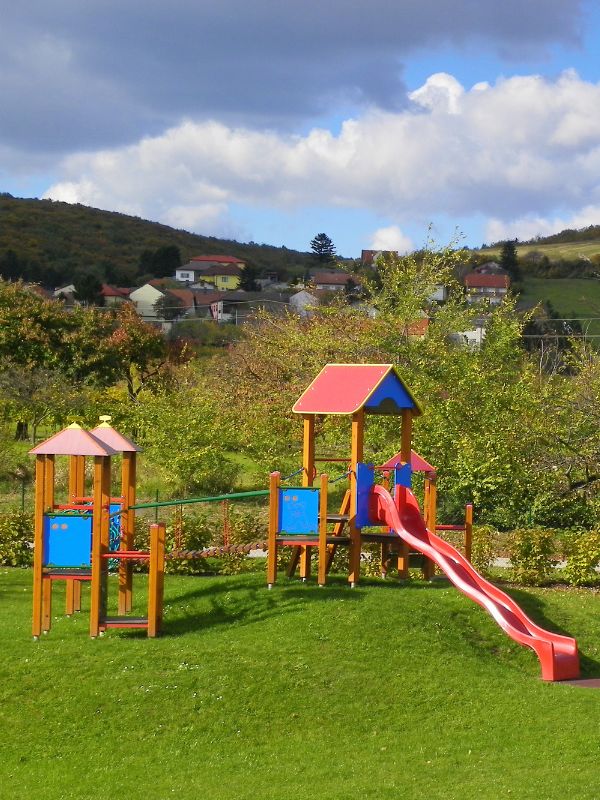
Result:
{"type": "Polygon", "coordinates": [[[600,206],[600,84],[570,71],[465,90],[443,74],[414,97],[418,107],[367,112],[338,135],[187,121],[127,148],[65,159],[46,196],[203,232],[233,224],[236,204],[369,209],[405,225],[477,214],[505,227],[600,206]]]}

